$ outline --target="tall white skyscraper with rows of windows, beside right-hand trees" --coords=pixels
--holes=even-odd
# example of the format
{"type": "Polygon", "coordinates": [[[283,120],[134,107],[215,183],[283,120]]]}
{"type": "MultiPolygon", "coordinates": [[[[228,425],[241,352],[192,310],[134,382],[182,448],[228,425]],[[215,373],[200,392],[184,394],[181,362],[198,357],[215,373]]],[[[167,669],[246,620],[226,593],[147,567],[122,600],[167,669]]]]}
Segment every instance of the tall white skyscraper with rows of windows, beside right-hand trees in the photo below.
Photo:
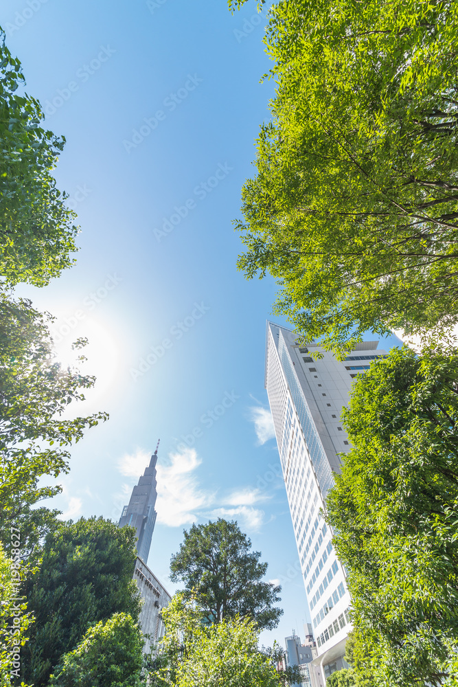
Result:
{"type": "Polygon", "coordinates": [[[329,677],[346,667],[350,594],[332,546],[332,531],[319,513],[339,473],[338,453],[350,449],[341,423],[353,378],[383,357],[378,341],[358,343],[338,361],[317,343],[299,346],[292,331],[267,323],[265,385],[317,638],[312,665],[329,677]],[[310,352],[320,352],[314,359],[310,352]]]}

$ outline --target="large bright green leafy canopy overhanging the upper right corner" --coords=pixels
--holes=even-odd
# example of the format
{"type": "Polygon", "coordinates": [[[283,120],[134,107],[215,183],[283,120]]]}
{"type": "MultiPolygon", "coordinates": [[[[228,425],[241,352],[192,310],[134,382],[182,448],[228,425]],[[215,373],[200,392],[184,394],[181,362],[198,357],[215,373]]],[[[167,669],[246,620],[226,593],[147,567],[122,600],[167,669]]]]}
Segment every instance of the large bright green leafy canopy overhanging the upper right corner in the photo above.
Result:
{"type": "Polygon", "coordinates": [[[271,8],[273,121],[238,264],[279,280],[274,311],[304,339],[345,350],[368,329],[458,322],[457,30],[447,0],[271,8]]]}

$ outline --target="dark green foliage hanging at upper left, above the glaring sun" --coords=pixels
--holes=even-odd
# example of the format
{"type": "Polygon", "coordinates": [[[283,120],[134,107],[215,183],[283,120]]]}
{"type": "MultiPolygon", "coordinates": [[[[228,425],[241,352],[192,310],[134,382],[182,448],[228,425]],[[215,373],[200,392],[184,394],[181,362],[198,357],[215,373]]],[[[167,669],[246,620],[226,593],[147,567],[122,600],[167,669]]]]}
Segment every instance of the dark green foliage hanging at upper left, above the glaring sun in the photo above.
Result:
{"type": "Polygon", "coordinates": [[[38,100],[19,95],[24,85],[0,28],[0,276],[43,286],[73,263],[78,229],[52,176],[65,139],[42,128],[38,100]]]}

